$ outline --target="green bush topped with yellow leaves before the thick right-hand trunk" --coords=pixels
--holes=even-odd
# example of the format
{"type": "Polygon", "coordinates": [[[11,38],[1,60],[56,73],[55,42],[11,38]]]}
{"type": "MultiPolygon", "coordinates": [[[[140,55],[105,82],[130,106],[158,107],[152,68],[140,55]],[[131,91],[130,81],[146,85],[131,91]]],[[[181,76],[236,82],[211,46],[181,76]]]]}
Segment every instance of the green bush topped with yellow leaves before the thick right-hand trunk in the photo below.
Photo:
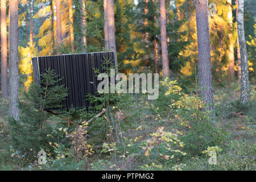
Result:
{"type": "MultiPolygon", "coordinates": [[[[166,95],[180,93],[181,88],[166,79],[162,82],[168,86],[166,95]]],[[[223,144],[224,132],[218,129],[214,120],[210,118],[210,112],[205,110],[203,99],[196,94],[182,93],[179,100],[172,100],[171,112],[175,113],[175,122],[179,130],[183,131],[182,140],[184,150],[191,155],[200,155],[207,146],[223,144]]]]}

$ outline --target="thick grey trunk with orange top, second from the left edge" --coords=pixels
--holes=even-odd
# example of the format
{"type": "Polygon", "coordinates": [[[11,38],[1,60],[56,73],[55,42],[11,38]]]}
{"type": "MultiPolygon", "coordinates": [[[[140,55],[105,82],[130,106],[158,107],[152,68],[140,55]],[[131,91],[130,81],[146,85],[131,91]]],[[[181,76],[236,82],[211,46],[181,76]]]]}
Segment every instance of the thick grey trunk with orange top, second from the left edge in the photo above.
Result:
{"type": "Polygon", "coordinates": [[[9,1],[10,10],[10,48],[9,48],[9,69],[10,69],[10,80],[9,80],[9,115],[14,117],[16,121],[19,120],[19,35],[18,35],[18,0],[9,1]]]}

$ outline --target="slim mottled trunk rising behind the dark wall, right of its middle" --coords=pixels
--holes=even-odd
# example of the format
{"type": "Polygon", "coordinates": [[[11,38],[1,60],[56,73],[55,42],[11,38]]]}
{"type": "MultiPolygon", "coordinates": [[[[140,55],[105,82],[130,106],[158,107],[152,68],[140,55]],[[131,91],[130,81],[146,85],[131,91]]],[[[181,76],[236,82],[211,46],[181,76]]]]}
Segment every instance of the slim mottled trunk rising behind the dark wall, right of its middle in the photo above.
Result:
{"type": "Polygon", "coordinates": [[[87,47],[87,40],[86,40],[86,1],[85,0],[80,0],[81,2],[81,30],[82,30],[82,45],[85,47],[84,51],[86,52],[86,47],[87,47]]]}

